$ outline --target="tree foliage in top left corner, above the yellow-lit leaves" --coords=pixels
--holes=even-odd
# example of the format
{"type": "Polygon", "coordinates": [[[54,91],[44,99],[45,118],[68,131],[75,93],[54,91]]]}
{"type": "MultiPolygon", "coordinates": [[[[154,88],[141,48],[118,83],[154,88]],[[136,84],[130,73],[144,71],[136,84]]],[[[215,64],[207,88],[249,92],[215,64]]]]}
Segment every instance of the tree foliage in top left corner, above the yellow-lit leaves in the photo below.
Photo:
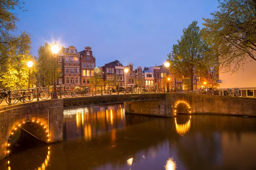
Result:
{"type": "Polygon", "coordinates": [[[25,54],[30,50],[31,40],[29,34],[22,32],[20,35],[12,34],[17,30],[16,22],[19,21],[15,8],[22,11],[24,2],[20,0],[0,1],[0,71],[7,67],[9,57],[25,54]]]}

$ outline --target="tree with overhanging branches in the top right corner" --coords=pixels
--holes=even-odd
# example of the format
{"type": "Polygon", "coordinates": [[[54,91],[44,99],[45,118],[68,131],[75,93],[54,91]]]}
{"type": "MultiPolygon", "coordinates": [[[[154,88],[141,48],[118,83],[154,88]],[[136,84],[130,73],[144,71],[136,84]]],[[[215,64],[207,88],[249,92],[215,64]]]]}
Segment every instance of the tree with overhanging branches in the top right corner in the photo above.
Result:
{"type": "Polygon", "coordinates": [[[203,39],[214,49],[221,71],[235,73],[247,57],[256,61],[256,1],[218,0],[219,11],[204,19],[203,39]]]}

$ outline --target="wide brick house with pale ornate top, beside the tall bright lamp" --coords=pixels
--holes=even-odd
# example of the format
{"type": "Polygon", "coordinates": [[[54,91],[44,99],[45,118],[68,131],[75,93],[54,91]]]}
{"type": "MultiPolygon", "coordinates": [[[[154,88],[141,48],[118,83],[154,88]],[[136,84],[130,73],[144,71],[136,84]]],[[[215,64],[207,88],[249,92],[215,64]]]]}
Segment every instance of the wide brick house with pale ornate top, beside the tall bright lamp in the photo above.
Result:
{"type": "Polygon", "coordinates": [[[62,63],[61,66],[59,66],[59,69],[62,70],[62,77],[58,79],[58,85],[65,84],[67,87],[80,85],[79,52],[76,47],[70,46],[68,48],[63,47],[61,53],[58,55],[58,62],[59,64],[62,63]]]}

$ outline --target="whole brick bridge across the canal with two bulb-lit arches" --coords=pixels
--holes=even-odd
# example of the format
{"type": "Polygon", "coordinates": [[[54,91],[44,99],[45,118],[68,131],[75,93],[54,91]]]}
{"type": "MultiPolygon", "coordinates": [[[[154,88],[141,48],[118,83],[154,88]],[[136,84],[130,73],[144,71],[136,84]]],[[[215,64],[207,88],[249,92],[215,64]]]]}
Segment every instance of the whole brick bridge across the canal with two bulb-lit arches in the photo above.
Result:
{"type": "Polygon", "coordinates": [[[48,144],[61,141],[64,107],[116,103],[124,103],[126,113],[152,116],[171,117],[176,113],[256,116],[254,98],[198,94],[119,94],[20,103],[0,108],[0,159],[12,153],[12,143],[20,129],[48,144]]]}

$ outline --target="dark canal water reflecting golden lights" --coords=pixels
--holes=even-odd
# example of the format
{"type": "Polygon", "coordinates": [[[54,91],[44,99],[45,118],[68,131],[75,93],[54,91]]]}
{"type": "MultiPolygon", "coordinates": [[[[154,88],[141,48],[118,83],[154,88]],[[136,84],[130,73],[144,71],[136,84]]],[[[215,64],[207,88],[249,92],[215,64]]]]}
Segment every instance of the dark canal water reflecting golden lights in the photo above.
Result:
{"type": "Polygon", "coordinates": [[[64,110],[63,139],[45,145],[21,132],[0,170],[256,169],[252,117],[156,118],[125,114],[123,105],[73,108],[64,110]]]}

